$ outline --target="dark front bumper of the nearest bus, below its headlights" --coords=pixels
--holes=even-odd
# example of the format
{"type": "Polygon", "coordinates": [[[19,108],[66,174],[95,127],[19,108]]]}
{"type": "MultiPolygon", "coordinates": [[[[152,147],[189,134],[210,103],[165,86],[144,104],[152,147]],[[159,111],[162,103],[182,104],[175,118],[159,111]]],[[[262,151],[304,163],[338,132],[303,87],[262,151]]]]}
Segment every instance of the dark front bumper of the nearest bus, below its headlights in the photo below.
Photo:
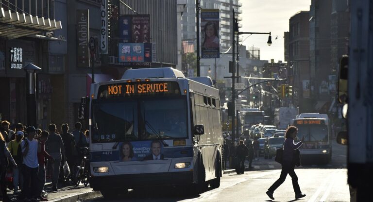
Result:
{"type": "Polygon", "coordinates": [[[92,176],[89,183],[93,190],[104,190],[108,187],[121,189],[155,185],[190,185],[193,183],[193,171],[92,176]]]}

